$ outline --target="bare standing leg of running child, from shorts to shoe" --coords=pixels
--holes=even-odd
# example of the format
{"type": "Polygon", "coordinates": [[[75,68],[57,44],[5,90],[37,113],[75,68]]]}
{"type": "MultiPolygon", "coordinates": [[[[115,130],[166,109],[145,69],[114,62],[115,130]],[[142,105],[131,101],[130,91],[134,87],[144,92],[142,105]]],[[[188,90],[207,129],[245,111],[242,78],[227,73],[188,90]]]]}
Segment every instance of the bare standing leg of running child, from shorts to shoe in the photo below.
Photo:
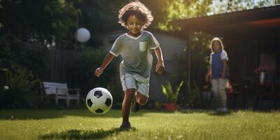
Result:
{"type": "Polygon", "coordinates": [[[123,104],[122,104],[123,123],[129,122],[130,108],[132,106],[134,96],[135,96],[135,89],[131,88],[125,90],[125,97],[123,99],[123,104]]]}

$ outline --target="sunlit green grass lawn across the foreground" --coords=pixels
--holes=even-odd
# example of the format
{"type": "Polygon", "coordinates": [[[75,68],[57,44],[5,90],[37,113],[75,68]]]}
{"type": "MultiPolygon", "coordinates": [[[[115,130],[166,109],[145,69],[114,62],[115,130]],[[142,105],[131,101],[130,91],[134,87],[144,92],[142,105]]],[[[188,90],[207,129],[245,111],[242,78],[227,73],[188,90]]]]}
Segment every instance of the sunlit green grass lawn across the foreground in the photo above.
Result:
{"type": "Polygon", "coordinates": [[[120,132],[119,110],[0,111],[0,139],[280,139],[280,112],[132,113],[134,129],[120,132]]]}

